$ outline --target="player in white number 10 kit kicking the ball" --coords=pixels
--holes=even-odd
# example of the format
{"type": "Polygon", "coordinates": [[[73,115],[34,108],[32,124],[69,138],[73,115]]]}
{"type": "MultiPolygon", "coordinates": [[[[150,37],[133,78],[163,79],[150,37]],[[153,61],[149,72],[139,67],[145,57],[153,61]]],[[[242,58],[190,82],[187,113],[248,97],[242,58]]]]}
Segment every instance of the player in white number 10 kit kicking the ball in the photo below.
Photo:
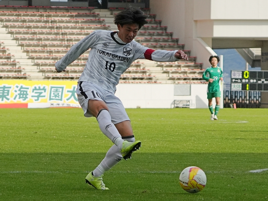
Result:
{"type": "Polygon", "coordinates": [[[86,176],[86,183],[96,189],[108,190],[102,181],[104,172],[122,158],[127,160],[141,147],[135,141],[130,119],[121,100],[114,95],[120,76],[136,59],[174,62],[186,59],[182,50],[152,50],[133,41],[148,16],[129,7],[114,17],[118,32],[96,30],[83,38],[55,64],[58,73],[91,48],[86,67],[77,84],[78,102],[85,117],[96,117],[100,130],[114,143],[101,163],[86,176]]]}

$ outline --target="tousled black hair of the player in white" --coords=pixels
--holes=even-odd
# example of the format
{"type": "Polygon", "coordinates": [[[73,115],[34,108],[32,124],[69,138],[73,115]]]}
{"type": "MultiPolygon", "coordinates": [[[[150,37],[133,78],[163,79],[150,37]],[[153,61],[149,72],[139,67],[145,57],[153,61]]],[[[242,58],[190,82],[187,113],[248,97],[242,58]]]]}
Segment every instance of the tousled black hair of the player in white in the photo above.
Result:
{"type": "Polygon", "coordinates": [[[147,17],[148,15],[145,15],[141,9],[130,6],[114,16],[114,24],[120,24],[122,27],[125,24],[137,24],[140,29],[143,25],[148,23],[146,21],[147,17]]]}

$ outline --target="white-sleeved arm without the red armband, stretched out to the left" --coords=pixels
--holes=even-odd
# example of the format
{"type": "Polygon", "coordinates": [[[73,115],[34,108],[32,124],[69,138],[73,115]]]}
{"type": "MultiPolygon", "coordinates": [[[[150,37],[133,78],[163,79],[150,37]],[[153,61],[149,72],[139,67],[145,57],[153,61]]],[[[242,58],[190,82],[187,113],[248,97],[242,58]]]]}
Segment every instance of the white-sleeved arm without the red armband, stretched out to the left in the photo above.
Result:
{"type": "Polygon", "coordinates": [[[89,48],[94,46],[94,43],[97,41],[96,34],[86,36],[78,43],[73,45],[71,49],[61,58],[61,60],[55,63],[55,69],[58,73],[65,71],[66,67],[73,63],[81,54],[86,52],[89,48]]]}

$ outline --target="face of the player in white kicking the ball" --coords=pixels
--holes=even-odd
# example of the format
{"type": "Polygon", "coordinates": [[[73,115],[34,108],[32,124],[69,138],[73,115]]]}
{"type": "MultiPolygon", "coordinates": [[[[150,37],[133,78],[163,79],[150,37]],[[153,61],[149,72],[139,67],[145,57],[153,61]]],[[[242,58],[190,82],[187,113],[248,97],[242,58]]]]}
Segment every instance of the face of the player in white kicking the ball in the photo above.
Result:
{"type": "Polygon", "coordinates": [[[137,36],[139,31],[139,26],[137,24],[125,24],[123,26],[119,24],[117,25],[117,28],[119,30],[119,38],[125,43],[130,43],[137,36]]]}

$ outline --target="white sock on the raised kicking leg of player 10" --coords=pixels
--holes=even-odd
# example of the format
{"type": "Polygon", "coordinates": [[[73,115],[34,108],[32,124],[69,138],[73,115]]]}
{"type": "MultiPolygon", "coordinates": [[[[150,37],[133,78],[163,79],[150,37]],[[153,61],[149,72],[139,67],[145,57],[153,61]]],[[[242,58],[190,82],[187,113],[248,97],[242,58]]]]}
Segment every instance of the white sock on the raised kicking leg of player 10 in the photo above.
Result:
{"type": "Polygon", "coordinates": [[[111,115],[108,110],[100,110],[97,121],[100,126],[100,130],[106,135],[112,143],[122,149],[122,144],[124,140],[122,139],[121,135],[119,134],[118,130],[114,126],[111,120],[111,115]]]}

